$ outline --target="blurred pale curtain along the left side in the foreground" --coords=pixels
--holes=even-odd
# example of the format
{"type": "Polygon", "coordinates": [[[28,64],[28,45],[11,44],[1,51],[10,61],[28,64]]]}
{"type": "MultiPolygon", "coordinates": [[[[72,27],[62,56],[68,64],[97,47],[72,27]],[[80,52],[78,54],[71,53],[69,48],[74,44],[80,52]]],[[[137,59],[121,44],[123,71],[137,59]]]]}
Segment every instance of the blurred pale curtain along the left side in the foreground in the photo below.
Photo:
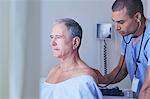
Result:
{"type": "Polygon", "coordinates": [[[40,0],[0,1],[0,99],[38,99],[40,0]]]}

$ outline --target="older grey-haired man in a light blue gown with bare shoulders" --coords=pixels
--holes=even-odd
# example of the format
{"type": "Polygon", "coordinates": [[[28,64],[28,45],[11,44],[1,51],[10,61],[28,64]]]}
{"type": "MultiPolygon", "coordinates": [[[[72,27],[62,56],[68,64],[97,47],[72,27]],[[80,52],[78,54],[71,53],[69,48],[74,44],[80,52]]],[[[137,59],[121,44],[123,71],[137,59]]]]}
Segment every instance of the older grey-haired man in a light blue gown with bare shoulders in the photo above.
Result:
{"type": "Polygon", "coordinates": [[[60,60],[41,83],[41,99],[102,99],[98,76],[79,56],[82,29],[73,19],[59,19],[52,29],[51,47],[60,60]]]}

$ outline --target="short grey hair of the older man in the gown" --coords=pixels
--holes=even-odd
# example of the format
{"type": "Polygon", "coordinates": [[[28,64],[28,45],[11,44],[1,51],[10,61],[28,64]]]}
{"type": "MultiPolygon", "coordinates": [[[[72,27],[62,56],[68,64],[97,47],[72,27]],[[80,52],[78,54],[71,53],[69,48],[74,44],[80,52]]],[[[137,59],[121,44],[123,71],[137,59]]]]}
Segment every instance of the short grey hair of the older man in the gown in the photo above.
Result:
{"type": "Polygon", "coordinates": [[[79,25],[79,23],[76,22],[75,20],[71,19],[71,18],[57,19],[56,24],[57,23],[64,23],[65,24],[65,26],[67,27],[67,29],[69,31],[69,35],[71,36],[71,38],[74,38],[76,36],[78,36],[80,38],[80,44],[79,44],[79,47],[80,47],[81,40],[82,40],[82,28],[79,25]]]}

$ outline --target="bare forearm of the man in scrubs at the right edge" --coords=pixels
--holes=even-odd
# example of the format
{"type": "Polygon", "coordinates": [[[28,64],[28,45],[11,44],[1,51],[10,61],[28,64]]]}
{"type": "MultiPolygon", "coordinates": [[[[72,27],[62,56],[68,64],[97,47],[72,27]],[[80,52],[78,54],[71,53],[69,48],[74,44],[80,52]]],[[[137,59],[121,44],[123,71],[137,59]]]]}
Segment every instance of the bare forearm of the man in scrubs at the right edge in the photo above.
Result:
{"type": "Polygon", "coordinates": [[[150,97],[150,65],[147,66],[146,78],[141,89],[139,99],[149,99],[150,97]]]}

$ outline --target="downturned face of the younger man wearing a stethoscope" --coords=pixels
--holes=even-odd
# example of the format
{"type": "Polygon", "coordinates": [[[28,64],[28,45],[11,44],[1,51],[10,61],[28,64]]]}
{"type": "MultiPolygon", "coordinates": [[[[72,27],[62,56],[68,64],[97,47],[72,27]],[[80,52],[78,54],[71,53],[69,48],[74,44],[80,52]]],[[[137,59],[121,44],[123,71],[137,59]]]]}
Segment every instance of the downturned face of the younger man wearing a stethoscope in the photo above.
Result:
{"type": "Polygon", "coordinates": [[[126,7],[112,12],[112,20],[114,21],[116,31],[122,36],[134,34],[138,30],[138,23],[135,17],[129,17],[126,7]]]}

